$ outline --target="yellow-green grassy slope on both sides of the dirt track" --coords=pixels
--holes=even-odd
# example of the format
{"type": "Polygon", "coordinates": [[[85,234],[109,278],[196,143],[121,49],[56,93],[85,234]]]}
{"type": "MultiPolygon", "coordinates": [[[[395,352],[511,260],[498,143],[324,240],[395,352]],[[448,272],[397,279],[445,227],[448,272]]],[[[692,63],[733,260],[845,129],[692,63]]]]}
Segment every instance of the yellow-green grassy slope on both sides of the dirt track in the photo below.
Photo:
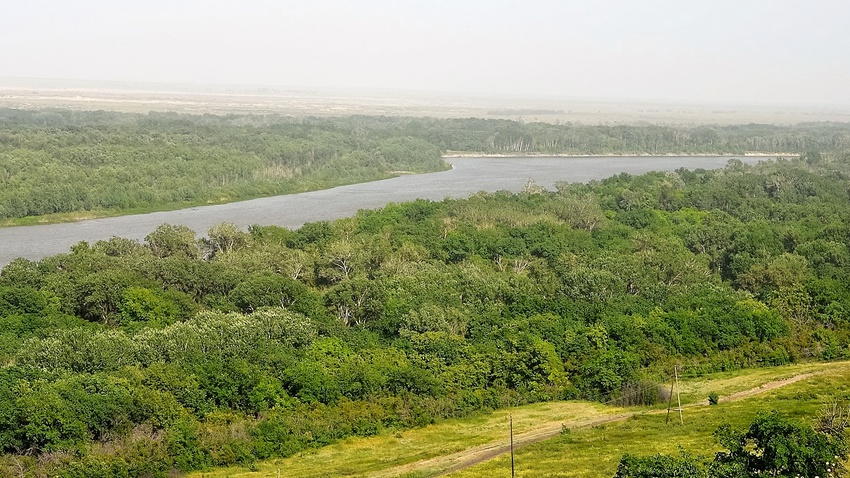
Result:
{"type": "MultiPolygon", "coordinates": [[[[850,363],[832,363],[752,369],[685,380],[682,401],[692,406],[685,411],[684,426],[666,426],[664,413],[639,413],[628,420],[597,427],[571,426],[569,434],[521,448],[516,455],[517,476],[610,477],[623,453],[675,453],[678,445],[693,453],[710,455],[716,449],[711,433],[724,420],[743,425],[758,410],[770,408],[811,416],[826,397],[850,398],[848,378],[850,363]],[[810,372],[819,375],[737,402],[724,403],[722,399],[767,382],[810,372]],[[721,395],[720,405],[699,405],[711,391],[721,395]]],[[[457,452],[475,452],[504,445],[509,415],[513,415],[515,436],[522,437],[529,436],[533,430],[558,430],[562,423],[581,425],[623,411],[622,408],[587,402],[534,404],[461,420],[447,420],[415,430],[350,438],[311,453],[259,463],[256,472],[245,468],[226,468],[191,476],[275,477],[278,472],[280,476],[290,477],[436,476],[457,464],[454,458],[458,455],[453,455],[457,452]]],[[[648,409],[631,411],[651,412],[648,409]]],[[[509,458],[502,456],[451,476],[490,478],[509,474],[509,458]]]]}

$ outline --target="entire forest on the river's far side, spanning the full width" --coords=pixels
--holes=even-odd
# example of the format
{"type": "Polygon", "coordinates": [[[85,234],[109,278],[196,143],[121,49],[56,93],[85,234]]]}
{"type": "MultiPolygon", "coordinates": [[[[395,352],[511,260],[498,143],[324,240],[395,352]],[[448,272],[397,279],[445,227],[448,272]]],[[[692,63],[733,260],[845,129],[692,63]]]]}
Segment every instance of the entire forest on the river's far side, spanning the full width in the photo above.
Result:
{"type": "Polygon", "coordinates": [[[850,127],[831,123],[590,126],[0,109],[0,220],[179,208],[438,171],[447,167],[445,151],[740,155],[848,146],[850,127]]]}

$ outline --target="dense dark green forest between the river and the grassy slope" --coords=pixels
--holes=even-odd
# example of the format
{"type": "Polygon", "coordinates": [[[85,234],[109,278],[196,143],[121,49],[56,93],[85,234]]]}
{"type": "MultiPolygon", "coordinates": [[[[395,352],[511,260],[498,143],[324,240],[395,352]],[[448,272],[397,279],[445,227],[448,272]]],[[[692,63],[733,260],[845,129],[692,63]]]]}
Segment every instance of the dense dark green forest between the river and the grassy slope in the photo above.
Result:
{"type": "Polygon", "coordinates": [[[645,381],[850,357],[850,165],[533,184],[0,273],[9,474],[166,476],[645,381]]]}

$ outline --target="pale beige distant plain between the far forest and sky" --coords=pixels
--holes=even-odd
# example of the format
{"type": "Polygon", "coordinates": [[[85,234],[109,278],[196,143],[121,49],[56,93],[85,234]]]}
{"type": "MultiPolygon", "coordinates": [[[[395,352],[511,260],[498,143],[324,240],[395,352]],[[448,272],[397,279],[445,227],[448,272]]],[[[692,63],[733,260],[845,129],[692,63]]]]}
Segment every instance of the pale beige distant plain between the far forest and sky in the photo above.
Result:
{"type": "Polygon", "coordinates": [[[406,90],[169,85],[0,78],[0,107],[146,113],[431,116],[583,124],[797,124],[850,121],[829,105],[684,104],[625,99],[492,97],[406,90]]]}

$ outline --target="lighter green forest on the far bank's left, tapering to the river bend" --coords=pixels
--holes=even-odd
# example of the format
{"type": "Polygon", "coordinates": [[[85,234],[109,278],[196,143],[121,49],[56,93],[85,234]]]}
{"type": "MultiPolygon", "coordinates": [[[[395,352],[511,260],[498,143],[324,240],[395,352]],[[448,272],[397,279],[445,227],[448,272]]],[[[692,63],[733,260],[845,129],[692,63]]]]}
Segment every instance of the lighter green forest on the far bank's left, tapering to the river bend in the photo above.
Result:
{"type": "Polygon", "coordinates": [[[421,139],[331,123],[0,110],[0,219],[185,207],[446,167],[421,139]]]}

